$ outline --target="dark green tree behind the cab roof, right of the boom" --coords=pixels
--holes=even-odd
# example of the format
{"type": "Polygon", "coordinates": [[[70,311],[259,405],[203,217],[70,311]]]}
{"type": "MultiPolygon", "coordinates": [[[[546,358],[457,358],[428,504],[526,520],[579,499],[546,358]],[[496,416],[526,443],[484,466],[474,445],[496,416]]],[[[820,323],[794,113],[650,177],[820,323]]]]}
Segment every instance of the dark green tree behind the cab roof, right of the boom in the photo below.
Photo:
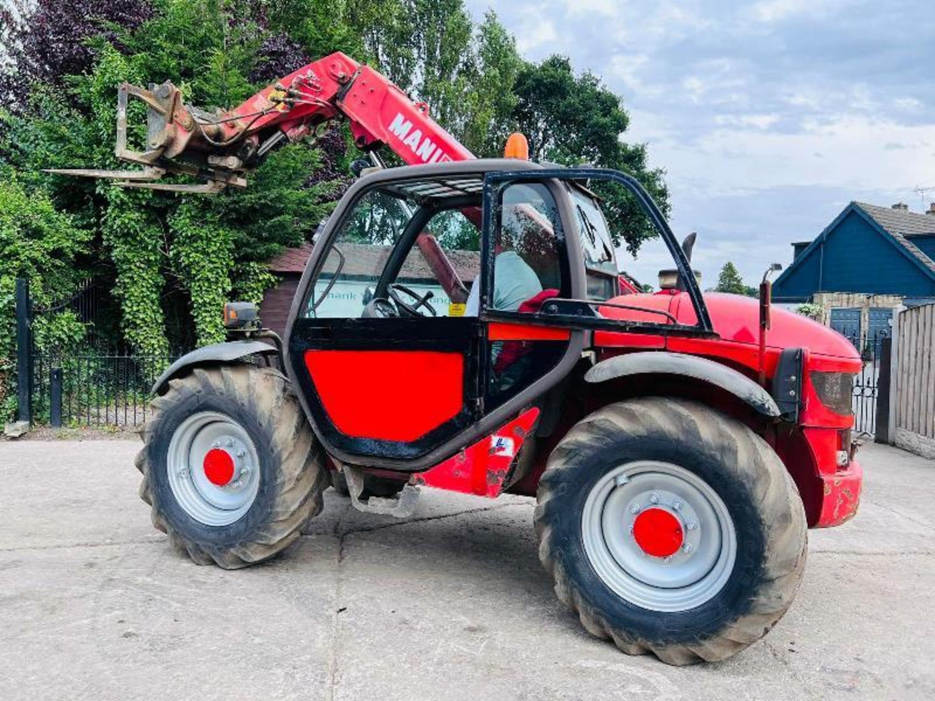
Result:
{"type": "MultiPolygon", "coordinates": [[[[561,165],[583,163],[625,171],[640,180],[664,214],[669,191],[664,171],[650,168],[644,144],[623,140],[629,115],[621,98],[593,73],[576,76],[568,58],[552,56],[540,64],[526,64],[513,87],[516,125],[529,138],[534,160],[561,165]]],[[[603,199],[611,234],[630,252],[656,232],[636,200],[620,187],[596,183],[603,199]]]]}

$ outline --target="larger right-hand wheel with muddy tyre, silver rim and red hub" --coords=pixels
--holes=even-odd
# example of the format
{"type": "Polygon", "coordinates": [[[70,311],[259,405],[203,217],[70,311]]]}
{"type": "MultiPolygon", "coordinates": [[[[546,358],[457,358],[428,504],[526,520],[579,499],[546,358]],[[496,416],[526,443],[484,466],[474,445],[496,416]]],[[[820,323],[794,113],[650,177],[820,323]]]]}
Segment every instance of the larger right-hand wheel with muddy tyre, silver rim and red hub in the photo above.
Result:
{"type": "Polygon", "coordinates": [[[669,665],[724,660],[798,589],[805,512],[783,463],[741,422],[647,397],[597,410],[539,481],[539,558],[594,636],[669,665]]]}

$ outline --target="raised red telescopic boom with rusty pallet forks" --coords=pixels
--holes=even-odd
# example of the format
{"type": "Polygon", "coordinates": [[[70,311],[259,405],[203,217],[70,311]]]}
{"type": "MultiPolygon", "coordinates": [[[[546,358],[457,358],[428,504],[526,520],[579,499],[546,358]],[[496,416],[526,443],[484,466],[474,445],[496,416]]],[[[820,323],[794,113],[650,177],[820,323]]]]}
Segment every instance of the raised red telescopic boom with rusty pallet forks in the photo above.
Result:
{"type": "Polygon", "coordinates": [[[385,144],[407,164],[460,161],[473,154],[416,103],[373,68],[341,52],[290,73],[229,111],[184,105],[170,82],[149,90],[123,83],[118,92],[117,157],[141,170],[55,169],[53,173],[117,179],[125,187],[182,193],[215,193],[244,187],[245,174],[274,147],[301,139],[336,119],[350,123],[354,142],[372,151],[385,144]],[[127,107],[147,106],[145,150],[127,143],[127,107]],[[200,184],[158,182],[168,173],[200,184]]]}

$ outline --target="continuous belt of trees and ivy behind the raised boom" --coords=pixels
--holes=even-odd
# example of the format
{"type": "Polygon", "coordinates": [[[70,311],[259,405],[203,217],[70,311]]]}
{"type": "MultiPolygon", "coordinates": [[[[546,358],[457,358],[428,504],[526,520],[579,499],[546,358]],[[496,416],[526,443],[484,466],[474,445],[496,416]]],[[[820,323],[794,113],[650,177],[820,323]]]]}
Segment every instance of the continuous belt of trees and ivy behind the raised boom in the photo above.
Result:
{"type": "MultiPolygon", "coordinates": [[[[475,22],[463,0],[7,0],[0,375],[8,381],[9,285],[17,275],[32,281],[40,305],[94,279],[113,304],[84,331],[145,355],[223,338],[223,302],[258,301],[275,281],[266,261],[307,240],[349,184],[357,153],[344,127],[273,152],[247,190],[215,196],[125,190],[43,169],[126,167],[113,155],[122,81],[170,79],[187,103],[233,107],[335,50],[376,64],[428,102],[478,155],[496,155],[521,129],[539,158],[624,168],[668,207],[662,171],[646,165],[642,145],[622,138],[629,118],[620,97],[596,76],[576,75],[563,57],[525,62],[496,16],[475,22]]],[[[141,130],[145,113],[135,108],[130,122],[141,130]]],[[[633,203],[611,195],[608,207],[621,244],[638,249],[650,231],[633,203]]],[[[50,330],[36,328],[40,343],[82,336],[74,317],[41,317],[50,330]]],[[[0,401],[8,413],[8,394],[0,401]]]]}

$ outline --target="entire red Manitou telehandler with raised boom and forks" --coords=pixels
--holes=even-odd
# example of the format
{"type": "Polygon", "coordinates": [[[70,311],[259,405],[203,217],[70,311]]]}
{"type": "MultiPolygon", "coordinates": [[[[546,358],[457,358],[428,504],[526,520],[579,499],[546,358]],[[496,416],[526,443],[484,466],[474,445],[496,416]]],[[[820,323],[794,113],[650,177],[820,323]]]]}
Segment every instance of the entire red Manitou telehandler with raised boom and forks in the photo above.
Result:
{"type": "Polygon", "coordinates": [[[424,487],[535,495],[542,565],[591,634],[673,665],[764,636],[798,589],[807,528],[856,512],[861,361],[771,309],[769,282],[758,303],[700,293],[636,179],[530,163],[521,135],[476,160],[340,53],[224,113],[170,83],[124,85],[117,153],[146,167],[73,173],[215,192],[337,118],[372,167],[316,236],[285,338],[228,304],[237,340],[153,388],[137,466],[155,526],[234,568],[295,541],[332,482],[396,516],[424,487]],[[149,107],[141,151],[131,95],[149,107]],[[408,165],[381,167],[382,145],[408,165]],[[203,183],[158,181],[173,173],[203,183]],[[619,274],[593,181],[631,193],[667,245],[659,292],[619,274]]]}

